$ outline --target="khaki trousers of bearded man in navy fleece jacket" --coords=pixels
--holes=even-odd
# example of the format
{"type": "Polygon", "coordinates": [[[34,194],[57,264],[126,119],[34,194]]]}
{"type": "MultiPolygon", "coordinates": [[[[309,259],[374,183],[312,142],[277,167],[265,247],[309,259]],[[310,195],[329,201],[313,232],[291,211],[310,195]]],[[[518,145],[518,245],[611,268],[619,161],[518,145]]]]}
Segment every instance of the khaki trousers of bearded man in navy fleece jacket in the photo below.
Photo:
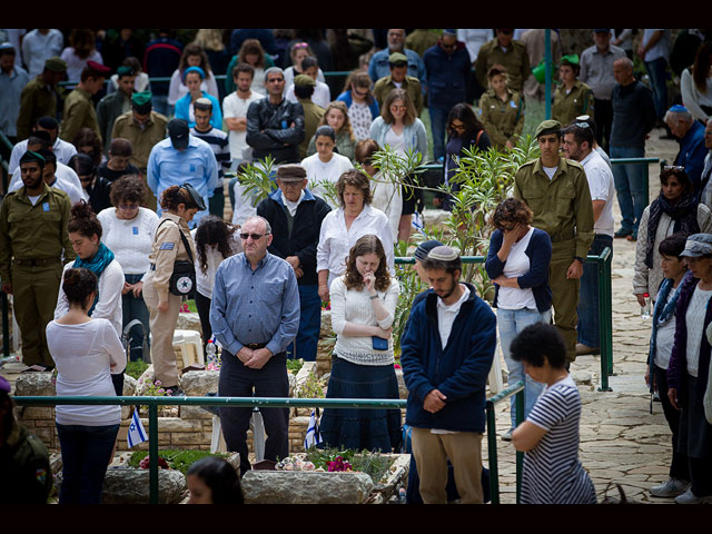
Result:
{"type": "Polygon", "coordinates": [[[447,504],[447,459],[453,464],[462,504],[482,504],[482,434],[433,434],[413,428],[413,456],[421,477],[425,504],[447,504]]]}

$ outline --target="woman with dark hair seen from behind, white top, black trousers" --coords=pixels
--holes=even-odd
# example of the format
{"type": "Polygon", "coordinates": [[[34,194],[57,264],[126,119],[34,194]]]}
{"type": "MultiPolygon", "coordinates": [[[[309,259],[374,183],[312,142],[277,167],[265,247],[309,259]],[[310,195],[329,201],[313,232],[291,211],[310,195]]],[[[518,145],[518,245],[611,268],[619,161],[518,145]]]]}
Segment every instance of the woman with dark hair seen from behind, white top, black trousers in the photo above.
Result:
{"type": "MultiPolygon", "coordinates": [[[[57,365],[58,396],[116,395],[112,374],[122,374],[126,354],[113,326],[88,315],[97,276],[69,268],[62,276],[68,308],[47,325],[47,345],[57,365]]],[[[119,405],[58,405],[56,424],[62,454],[60,504],[99,504],[107,466],[121,422],[119,405]]]]}

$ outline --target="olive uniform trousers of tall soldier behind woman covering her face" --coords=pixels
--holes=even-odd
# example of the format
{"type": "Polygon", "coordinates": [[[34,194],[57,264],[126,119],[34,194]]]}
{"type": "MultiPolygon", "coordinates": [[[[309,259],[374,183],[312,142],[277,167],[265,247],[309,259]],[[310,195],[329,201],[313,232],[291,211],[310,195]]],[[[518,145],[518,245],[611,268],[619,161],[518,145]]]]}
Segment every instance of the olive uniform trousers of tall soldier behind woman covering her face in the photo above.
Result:
{"type": "Polygon", "coordinates": [[[578,323],[576,307],[578,306],[581,279],[566,278],[566,270],[573,263],[575,254],[576,245],[573,239],[552,243],[548,285],[552,289],[554,326],[566,344],[566,362],[576,359],[576,324],[578,323]]]}

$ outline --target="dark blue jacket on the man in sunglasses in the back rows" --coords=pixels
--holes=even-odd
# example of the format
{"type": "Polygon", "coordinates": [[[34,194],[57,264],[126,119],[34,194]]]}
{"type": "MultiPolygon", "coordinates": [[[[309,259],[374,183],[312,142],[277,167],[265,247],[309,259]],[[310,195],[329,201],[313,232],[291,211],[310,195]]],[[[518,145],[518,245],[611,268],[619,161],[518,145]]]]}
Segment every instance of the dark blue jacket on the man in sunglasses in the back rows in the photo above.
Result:
{"type": "Polygon", "coordinates": [[[472,78],[469,52],[463,42],[451,55],[435,44],[423,55],[427,71],[427,102],[429,107],[452,109],[467,101],[467,87],[472,78]]]}

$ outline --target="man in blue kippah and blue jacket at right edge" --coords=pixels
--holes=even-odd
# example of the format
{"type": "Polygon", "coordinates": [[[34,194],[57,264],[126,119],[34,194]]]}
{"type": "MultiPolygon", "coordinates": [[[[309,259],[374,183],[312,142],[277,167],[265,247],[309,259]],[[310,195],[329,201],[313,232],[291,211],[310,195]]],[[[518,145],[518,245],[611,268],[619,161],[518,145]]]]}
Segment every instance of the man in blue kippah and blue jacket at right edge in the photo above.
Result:
{"type": "Polygon", "coordinates": [[[670,108],[664,120],[680,145],[674,165],[685,168],[686,175],[694,185],[695,195],[700,196],[702,169],[708,155],[704,146],[704,126],[692,117],[688,108],[680,105],[670,108]]]}

